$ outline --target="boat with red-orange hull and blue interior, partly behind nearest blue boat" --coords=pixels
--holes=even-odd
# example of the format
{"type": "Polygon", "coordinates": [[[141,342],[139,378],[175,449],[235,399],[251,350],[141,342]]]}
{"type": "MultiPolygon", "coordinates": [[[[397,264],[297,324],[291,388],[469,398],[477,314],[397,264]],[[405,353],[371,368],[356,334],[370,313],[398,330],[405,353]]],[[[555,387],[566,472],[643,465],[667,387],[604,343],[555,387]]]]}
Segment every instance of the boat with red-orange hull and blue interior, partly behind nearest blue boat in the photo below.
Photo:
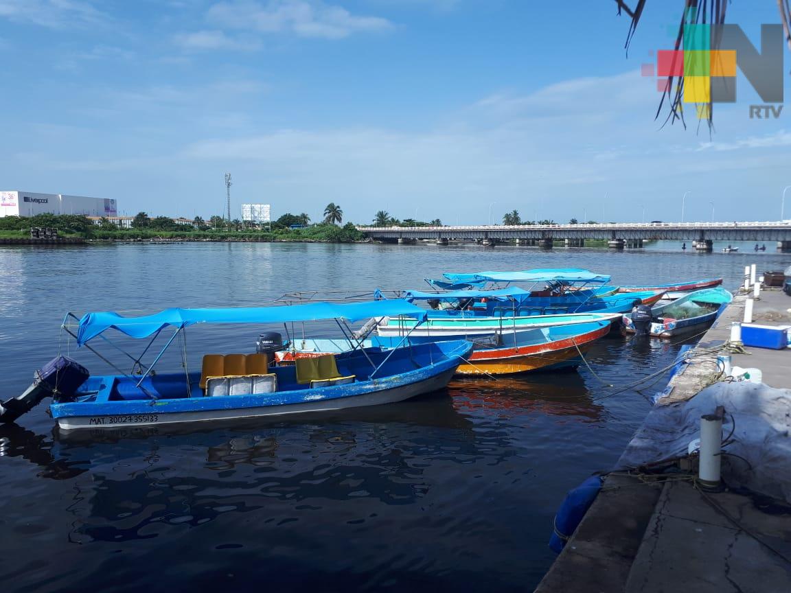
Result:
{"type": "MultiPolygon", "coordinates": [[[[593,342],[610,332],[609,320],[470,338],[474,348],[456,370],[458,375],[513,375],[574,368],[593,342]]],[[[399,338],[373,336],[365,346],[397,346],[399,338]]],[[[343,339],[297,340],[277,353],[279,361],[342,353],[352,347],[343,339]]]]}

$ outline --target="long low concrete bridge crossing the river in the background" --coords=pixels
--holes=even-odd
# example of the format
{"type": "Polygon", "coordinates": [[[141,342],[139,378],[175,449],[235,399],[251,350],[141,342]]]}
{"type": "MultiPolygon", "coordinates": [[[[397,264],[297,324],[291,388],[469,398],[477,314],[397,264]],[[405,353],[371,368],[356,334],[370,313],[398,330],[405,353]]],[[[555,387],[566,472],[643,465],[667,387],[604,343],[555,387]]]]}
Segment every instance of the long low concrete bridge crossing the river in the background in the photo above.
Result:
{"type": "Polygon", "coordinates": [[[782,251],[791,251],[791,221],[775,222],[652,222],[604,223],[600,225],[489,225],[358,227],[371,239],[402,244],[416,240],[476,241],[494,245],[516,241],[523,245],[552,247],[563,240],[567,247],[584,247],[585,240],[606,240],[609,247],[642,247],[644,240],[689,241],[691,248],[712,251],[713,241],[776,242],[782,251]]]}

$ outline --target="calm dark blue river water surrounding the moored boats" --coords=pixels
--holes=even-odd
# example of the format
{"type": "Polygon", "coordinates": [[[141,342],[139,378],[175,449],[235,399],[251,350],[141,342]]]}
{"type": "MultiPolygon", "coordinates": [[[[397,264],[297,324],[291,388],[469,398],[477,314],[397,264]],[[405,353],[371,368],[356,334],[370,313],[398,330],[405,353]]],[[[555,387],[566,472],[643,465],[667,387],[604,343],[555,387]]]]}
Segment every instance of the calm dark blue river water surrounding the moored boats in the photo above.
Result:
{"type": "MultiPolygon", "coordinates": [[[[732,287],[746,263],[791,263],[662,247],[0,248],[0,394],[18,395],[59,351],[75,354],[59,338],[68,311],[255,305],[297,289],[420,288],[443,271],[536,267],[585,267],[622,284],[723,276],[732,287]]],[[[191,330],[189,364],[199,368],[206,351],[252,351],[257,330],[191,330]]],[[[589,361],[623,385],[678,349],[606,339],[589,361]]],[[[77,357],[105,370],[90,353],[77,357]]],[[[566,490],[611,466],[649,410],[637,391],[609,391],[581,368],[459,380],[335,416],[93,441],[59,437],[40,406],[0,427],[9,441],[0,582],[5,591],[524,591],[554,558],[546,542],[566,490]]]]}

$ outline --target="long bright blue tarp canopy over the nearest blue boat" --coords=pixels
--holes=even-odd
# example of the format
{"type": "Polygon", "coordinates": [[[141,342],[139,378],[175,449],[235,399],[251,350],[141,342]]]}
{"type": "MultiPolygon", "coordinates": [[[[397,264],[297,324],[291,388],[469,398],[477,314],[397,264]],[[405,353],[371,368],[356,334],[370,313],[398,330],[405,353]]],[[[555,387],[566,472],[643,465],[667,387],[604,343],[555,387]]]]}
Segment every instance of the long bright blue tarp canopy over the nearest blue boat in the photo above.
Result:
{"type": "Polygon", "coordinates": [[[369,317],[406,315],[424,319],[426,311],[406,300],[375,300],[366,303],[308,303],[286,307],[221,309],[165,309],[153,315],[123,317],[115,312],[86,313],[77,333],[79,346],[114,327],[132,338],[148,338],[165,327],[187,327],[195,323],[286,323],[346,319],[354,322],[369,317]]]}

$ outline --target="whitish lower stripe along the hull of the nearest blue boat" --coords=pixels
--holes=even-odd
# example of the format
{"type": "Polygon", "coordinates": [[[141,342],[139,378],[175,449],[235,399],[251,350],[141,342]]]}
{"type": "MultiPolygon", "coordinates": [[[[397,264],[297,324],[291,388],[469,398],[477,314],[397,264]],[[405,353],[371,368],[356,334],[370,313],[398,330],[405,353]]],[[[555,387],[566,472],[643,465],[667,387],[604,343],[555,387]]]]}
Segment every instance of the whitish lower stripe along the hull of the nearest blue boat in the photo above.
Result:
{"type": "Polygon", "coordinates": [[[456,372],[456,368],[450,368],[441,375],[430,377],[429,379],[410,383],[383,391],[374,391],[363,395],[352,395],[346,398],[324,399],[316,402],[301,402],[288,404],[285,406],[260,406],[255,408],[231,409],[231,410],[199,410],[195,412],[172,412],[169,414],[105,414],[102,416],[72,416],[58,418],[58,427],[61,430],[77,429],[119,429],[133,426],[160,426],[184,424],[186,422],[214,421],[214,420],[238,420],[243,418],[255,418],[266,416],[284,416],[287,414],[302,414],[305,412],[325,412],[331,410],[344,410],[360,406],[380,406],[386,403],[403,402],[405,399],[414,398],[418,395],[437,391],[448,384],[448,381],[456,372]],[[152,416],[156,416],[156,421],[150,421],[152,416]],[[112,424],[91,423],[92,418],[119,418],[128,419],[128,422],[118,422],[112,424]],[[141,421],[136,417],[143,418],[141,421]]]}

